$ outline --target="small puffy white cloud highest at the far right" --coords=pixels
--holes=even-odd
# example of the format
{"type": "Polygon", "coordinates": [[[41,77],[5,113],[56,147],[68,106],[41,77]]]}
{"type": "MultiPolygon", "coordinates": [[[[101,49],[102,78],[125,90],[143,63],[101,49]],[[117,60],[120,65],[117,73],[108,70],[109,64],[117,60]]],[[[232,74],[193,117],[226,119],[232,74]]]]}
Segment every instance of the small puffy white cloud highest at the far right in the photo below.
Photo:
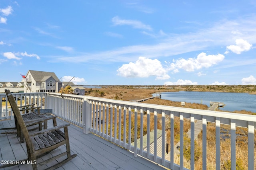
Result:
{"type": "MultiPolygon", "coordinates": [[[[252,44],[243,39],[236,39],[236,45],[227,46],[227,49],[236,54],[241,54],[243,51],[249,51],[252,44]]],[[[228,53],[227,51],[225,53],[228,53]]]]}

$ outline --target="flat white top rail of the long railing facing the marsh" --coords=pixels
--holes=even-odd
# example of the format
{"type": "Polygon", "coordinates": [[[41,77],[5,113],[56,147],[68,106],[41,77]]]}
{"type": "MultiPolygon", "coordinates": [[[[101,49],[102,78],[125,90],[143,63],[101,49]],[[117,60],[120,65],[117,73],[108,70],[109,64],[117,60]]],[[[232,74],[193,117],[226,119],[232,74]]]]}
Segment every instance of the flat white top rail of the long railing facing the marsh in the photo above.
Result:
{"type": "Polygon", "coordinates": [[[235,119],[235,120],[256,122],[256,115],[230,113],[230,112],[224,112],[224,111],[191,109],[191,108],[174,107],[174,106],[163,106],[163,105],[156,105],[156,104],[146,104],[146,103],[137,103],[137,102],[113,100],[113,99],[106,99],[106,98],[97,98],[97,97],[92,97],[92,96],[79,96],[79,95],[73,95],[73,94],[60,94],[60,93],[48,93],[48,94],[49,95],[50,94],[57,95],[57,96],[69,96],[69,97],[75,97],[75,98],[83,98],[84,100],[94,100],[95,102],[102,102],[102,103],[152,108],[152,109],[156,109],[156,110],[165,110],[165,111],[170,111],[170,113],[174,113],[174,112],[185,113],[185,114],[189,113],[189,114],[194,114],[194,115],[220,117],[220,118],[226,118],[226,119],[235,119]]]}

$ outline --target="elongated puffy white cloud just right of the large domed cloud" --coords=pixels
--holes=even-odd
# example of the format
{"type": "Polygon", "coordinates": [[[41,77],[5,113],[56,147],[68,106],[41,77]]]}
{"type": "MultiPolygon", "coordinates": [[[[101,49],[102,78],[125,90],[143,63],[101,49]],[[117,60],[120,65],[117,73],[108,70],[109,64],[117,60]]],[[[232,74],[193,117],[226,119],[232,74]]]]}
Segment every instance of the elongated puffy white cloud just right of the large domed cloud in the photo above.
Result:
{"type": "Polygon", "coordinates": [[[174,60],[175,63],[170,64],[170,70],[178,72],[178,69],[181,68],[188,72],[198,70],[201,68],[208,68],[214,64],[217,64],[224,60],[225,56],[222,54],[218,55],[206,55],[206,53],[200,53],[197,58],[189,59],[178,59],[174,60]]]}

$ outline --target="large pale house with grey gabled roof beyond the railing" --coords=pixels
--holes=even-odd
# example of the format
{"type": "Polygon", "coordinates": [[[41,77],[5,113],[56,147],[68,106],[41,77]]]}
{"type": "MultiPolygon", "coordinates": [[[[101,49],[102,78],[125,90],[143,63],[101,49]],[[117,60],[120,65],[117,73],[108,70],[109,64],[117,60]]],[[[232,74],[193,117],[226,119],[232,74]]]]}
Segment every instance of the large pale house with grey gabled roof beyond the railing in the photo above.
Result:
{"type": "Polygon", "coordinates": [[[26,78],[22,78],[25,93],[58,92],[62,82],[54,72],[28,70],[26,78]],[[56,84],[56,82],[58,82],[56,84]]]}

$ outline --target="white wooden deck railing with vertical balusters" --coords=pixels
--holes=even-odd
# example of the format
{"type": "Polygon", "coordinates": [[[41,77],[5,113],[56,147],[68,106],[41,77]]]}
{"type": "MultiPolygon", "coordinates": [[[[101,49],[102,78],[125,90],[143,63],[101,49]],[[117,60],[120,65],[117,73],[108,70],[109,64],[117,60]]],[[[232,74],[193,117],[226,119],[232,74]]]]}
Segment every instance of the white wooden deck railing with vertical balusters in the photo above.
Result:
{"type": "MultiPolygon", "coordinates": [[[[1,94],[2,95],[2,94],[1,94]]],[[[0,97],[3,97],[3,95],[0,97]]],[[[18,94],[16,94],[18,95],[18,94]]],[[[23,94],[22,94],[23,95],[23,94]]],[[[29,95],[29,94],[28,94],[29,95]]],[[[39,93],[31,94],[32,96],[42,96],[45,99],[46,109],[53,109],[53,113],[58,117],[69,121],[84,129],[84,133],[95,133],[117,145],[124,147],[132,152],[134,156],[142,156],[152,160],[162,166],[170,169],[195,169],[195,123],[197,120],[202,121],[202,169],[209,169],[208,157],[214,155],[214,169],[222,168],[221,152],[230,152],[231,169],[236,169],[236,128],[243,127],[246,129],[246,163],[248,169],[253,170],[255,166],[255,127],[256,116],[208,111],[200,109],[188,109],[183,107],[160,106],[154,104],[144,104],[120,100],[110,100],[104,98],[95,98],[90,96],[68,95],[58,93],[39,93]],[[45,96],[44,96],[45,95],[45,96]],[[178,122],[177,122],[178,118],[178,122]],[[152,120],[150,120],[152,119],[152,120]],[[174,153],[174,133],[178,125],[180,140],[180,155],[184,155],[184,122],[190,124],[190,166],[185,166],[184,156],[178,156],[179,161],[175,162],[174,153]],[[176,124],[177,123],[177,124],[176,124]],[[214,124],[215,130],[215,151],[209,153],[208,150],[208,126],[214,124]],[[146,128],[143,128],[146,125],[146,128]],[[228,125],[228,134],[230,134],[230,146],[228,150],[221,149],[222,131],[221,126],[228,125]],[[138,128],[134,128],[138,127],[138,128]],[[170,136],[167,144],[170,145],[170,158],[166,159],[166,127],[170,127],[170,136]],[[162,131],[162,154],[157,154],[158,134],[157,129],[162,131]],[[154,130],[153,137],[150,131],[154,130]],[[121,132],[121,133],[119,133],[121,132]],[[146,148],[143,140],[138,142],[137,139],[143,139],[143,133],[146,132],[146,148]],[[140,135],[138,135],[140,134],[140,135]],[[150,140],[153,138],[154,152],[150,152],[150,140]],[[135,140],[134,140],[135,139],[135,140]],[[174,163],[175,162],[175,163],[174,163]],[[184,168],[186,167],[186,168],[184,168]]],[[[16,99],[17,100],[17,99],[16,99]]],[[[1,109],[1,106],[0,106],[1,109]]],[[[3,117],[3,116],[2,116],[3,117]]],[[[5,116],[6,117],[6,116],[5,116]]],[[[151,133],[152,134],[152,133],[151,133]]]]}

